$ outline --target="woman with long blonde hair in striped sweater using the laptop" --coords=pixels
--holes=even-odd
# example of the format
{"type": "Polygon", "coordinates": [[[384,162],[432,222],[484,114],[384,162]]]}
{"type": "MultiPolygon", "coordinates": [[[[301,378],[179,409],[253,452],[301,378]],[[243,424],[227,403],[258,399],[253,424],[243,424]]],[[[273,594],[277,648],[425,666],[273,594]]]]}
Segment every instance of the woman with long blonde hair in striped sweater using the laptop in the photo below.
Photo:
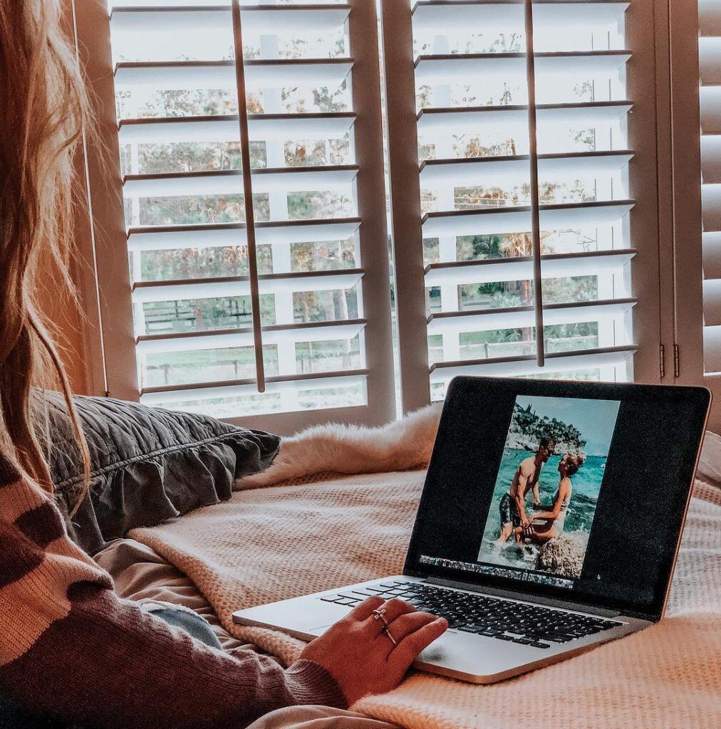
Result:
{"type": "Polygon", "coordinates": [[[445,620],[371,598],[284,669],[252,651],[213,647],[199,620],[190,625],[177,611],[159,617],[121,601],[109,575],[67,537],[38,438],[42,424],[28,408],[31,388],[61,389],[87,461],[65,370],[36,305],[41,256],[69,281],[73,155],[88,120],[58,7],[58,0],[0,0],[3,725],[15,716],[15,725],[29,728],[31,717],[17,717],[31,709],[62,725],[232,729],[284,706],[345,707],[388,691],[445,620]],[[374,619],[380,607],[397,645],[374,619]]]}

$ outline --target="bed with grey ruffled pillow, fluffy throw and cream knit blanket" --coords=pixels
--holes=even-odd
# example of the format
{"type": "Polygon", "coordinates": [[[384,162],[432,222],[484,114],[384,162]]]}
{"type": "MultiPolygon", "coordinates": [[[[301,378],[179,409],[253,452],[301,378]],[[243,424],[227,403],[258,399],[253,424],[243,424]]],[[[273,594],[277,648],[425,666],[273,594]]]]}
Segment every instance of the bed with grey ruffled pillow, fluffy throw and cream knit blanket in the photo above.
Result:
{"type": "MultiPolygon", "coordinates": [[[[120,596],[204,617],[225,647],[282,663],[303,644],[232,612],[401,572],[439,408],[380,430],[323,426],[285,439],[205,416],[78,398],[90,498],[70,523],[120,596]],[[263,471],[272,461],[271,467],[263,471]],[[333,473],[343,469],[344,474],[333,473]],[[261,472],[263,471],[263,472],[261,472]],[[158,526],[150,526],[158,525],[158,526]]],[[[82,483],[60,399],[53,475],[82,483]]],[[[286,712],[253,729],[717,729],[721,726],[721,438],[707,434],[668,613],[640,634],[496,685],[412,673],[354,712],[286,712]]],[[[621,558],[631,558],[620,555],[621,558]]],[[[636,557],[638,558],[638,557],[636,557]]]]}

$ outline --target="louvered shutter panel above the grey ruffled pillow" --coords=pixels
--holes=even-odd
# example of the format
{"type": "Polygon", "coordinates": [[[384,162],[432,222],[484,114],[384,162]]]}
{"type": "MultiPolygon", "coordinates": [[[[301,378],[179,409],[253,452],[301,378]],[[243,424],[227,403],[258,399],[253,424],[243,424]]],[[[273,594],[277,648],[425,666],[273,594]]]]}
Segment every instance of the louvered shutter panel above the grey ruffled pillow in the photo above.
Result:
{"type": "Polygon", "coordinates": [[[373,2],[244,0],[244,87],[230,1],[109,10],[140,401],[391,418],[373,2]]]}

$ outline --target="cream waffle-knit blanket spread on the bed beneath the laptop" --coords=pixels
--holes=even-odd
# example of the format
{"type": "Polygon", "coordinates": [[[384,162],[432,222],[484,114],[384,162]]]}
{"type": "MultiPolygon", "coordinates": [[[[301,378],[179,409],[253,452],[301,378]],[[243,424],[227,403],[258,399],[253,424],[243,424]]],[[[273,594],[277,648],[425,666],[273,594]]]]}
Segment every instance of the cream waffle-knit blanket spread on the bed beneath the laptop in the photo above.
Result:
{"type": "MultiPolygon", "coordinates": [[[[401,571],[424,476],[240,491],[130,536],[188,574],[231,634],[290,662],[301,642],[232,612],[401,571]]],[[[496,685],[412,674],[355,708],[408,729],[718,729],[720,662],[721,491],[699,484],[659,625],[496,685]]]]}

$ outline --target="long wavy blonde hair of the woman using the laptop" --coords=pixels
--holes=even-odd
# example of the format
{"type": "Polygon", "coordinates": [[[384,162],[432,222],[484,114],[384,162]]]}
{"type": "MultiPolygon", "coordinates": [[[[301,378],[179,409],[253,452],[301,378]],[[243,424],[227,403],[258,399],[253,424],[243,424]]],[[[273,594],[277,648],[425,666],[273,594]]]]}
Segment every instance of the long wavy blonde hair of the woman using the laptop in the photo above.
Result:
{"type": "Polygon", "coordinates": [[[86,484],[89,464],[53,327],[36,303],[41,256],[74,292],[74,153],[89,117],[58,0],[0,0],[0,77],[0,448],[53,491],[33,388],[61,389],[86,484]]]}

